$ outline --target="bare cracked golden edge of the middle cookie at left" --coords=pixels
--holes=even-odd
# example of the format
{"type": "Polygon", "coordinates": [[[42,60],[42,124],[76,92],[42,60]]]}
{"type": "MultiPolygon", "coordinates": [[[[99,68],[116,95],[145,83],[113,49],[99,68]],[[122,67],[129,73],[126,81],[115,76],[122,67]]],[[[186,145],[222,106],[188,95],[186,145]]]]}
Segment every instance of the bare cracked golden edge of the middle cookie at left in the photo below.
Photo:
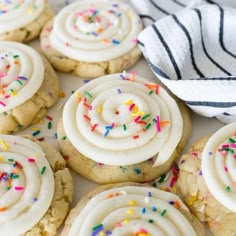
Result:
{"type": "Polygon", "coordinates": [[[59,81],[56,73],[43,58],[44,80],[34,96],[23,104],[0,113],[0,133],[8,134],[20,131],[23,128],[37,123],[47,113],[48,108],[54,105],[59,97],[59,81]]]}

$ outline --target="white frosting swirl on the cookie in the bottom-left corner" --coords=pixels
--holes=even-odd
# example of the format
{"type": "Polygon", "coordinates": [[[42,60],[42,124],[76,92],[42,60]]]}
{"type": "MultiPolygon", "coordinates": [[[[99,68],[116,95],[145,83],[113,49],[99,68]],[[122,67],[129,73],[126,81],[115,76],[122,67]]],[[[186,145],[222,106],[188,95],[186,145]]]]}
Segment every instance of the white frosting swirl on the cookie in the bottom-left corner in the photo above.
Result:
{"type": "Polygon", "coordinates": [[[48,210],[54,177],[39,145],[0,135],[0,235],[30,230],[48,210]]]}

